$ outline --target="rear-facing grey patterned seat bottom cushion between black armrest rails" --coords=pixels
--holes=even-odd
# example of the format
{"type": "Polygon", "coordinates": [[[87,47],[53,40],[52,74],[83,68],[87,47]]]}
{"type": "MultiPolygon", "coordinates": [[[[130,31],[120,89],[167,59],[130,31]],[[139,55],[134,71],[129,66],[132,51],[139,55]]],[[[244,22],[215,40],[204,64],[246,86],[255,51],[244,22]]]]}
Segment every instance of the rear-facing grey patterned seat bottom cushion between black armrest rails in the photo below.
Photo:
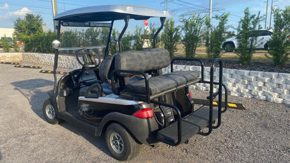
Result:
{"type": "MultiPolygon", "coordinates": [[[[176,71],[151,77],[148,79],[149,93],[155,95],[176,88],[182,84],[187,84],[199,77],[199,71],[176,71]]],[[[145,81],[139,80],[125,86],[125,91],[146,95],[145,81]]]]}

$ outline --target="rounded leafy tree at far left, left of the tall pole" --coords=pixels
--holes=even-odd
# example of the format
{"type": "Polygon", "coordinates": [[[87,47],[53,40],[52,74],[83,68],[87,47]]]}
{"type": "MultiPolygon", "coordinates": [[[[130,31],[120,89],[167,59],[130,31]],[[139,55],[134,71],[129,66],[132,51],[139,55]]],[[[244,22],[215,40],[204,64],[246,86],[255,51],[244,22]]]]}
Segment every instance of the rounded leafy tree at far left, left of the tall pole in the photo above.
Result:
{"type": "Polygon", "coordinates": [[[28,36],[43,33],[43,18],[40,15],[26,14],[22,20],[20,17],[14,22],[14,35],[17,40],[24,42],[28,36]]]}

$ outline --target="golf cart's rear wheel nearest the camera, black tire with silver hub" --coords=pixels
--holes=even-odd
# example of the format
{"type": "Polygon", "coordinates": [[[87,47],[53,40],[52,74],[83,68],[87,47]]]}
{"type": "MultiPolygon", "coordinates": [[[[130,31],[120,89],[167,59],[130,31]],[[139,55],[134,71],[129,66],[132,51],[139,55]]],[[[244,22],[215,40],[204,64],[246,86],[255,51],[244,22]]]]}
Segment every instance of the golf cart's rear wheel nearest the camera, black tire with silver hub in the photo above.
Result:
{"type": "Polygon", "coordinates": [[[107,127],[105,139],[107,148],[116,160],[131,160],[138,155],[141,144],[132,138],[128,130],[118,123],[107,127]]]}

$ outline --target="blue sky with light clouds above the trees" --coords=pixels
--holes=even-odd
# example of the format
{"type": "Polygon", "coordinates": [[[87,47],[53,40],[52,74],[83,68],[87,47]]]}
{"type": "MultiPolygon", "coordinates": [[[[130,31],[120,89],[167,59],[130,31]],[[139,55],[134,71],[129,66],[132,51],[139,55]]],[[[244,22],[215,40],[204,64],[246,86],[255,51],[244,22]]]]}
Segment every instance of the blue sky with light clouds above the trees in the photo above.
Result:
{"type": "MultiPolygon", "coordinates": [[[[171,11],[176,24],[181,25],[180,15],[189,15],[193,12],[199,12],[201,17],[208,15],[209,0],[56,0],[58,13],[75,8],[82,8],[86,6],[100,6],[109,4],[128,4],[137,6],[146,6],[155,8],[157,10],[171,11]]],[[[245,8],[250,8],[250,13],[266,15],[266,1],[267,0],[213,0],[213,16],[230,13],[228,25],[231,26],[230,31],[235,31],[239,20],[243,17],[245,8]]],[[[270,26],[270,6],[272,0],[268,0],[268,19],[267,28],[270,26]]],[[[290,0],[273,0],[273,8],[284,9],[290,6],[290,0]]],[[[52,0],[0,0],[0,28],[13,28],[13,22],[17,17],[23,18],[26,13],[38,14],[43,17],[43,22],[47,29],[53,29],[52,22],[52,0]]],[[[148,20],[148,23],[153,23],[159,26],[158,19],[148,20]]],[[[217,21],[213,19],[213,25],[217,21]]],[[[130,24],[130,23],[129,23],[130,24]]],[[[265,26],[265,20],[261,22],[265,26]]],[[[128,27],[129,31],[133,31],[135,26],[144,27],[143,21],[131,23],[128,27]]],[[[272,24],[273,26],[273,24],[272,24]]],[[[121,31],[123,22],[118,22],[114,26],[121,31]]]]}

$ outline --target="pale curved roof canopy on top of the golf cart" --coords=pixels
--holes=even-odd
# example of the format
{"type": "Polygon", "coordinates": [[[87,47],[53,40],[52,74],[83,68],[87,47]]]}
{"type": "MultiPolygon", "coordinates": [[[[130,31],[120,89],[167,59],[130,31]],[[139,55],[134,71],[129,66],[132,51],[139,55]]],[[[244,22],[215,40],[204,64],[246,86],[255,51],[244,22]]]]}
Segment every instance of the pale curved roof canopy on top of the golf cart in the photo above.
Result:
{"type": "Polygon", "coordinates": [[[77,8],[60,13],[54,20],[66,22],[107,22],[112,20],[130,19],[148,20],[150,17],[171,17],[166,10],[155,10],[142,6],[106,5],[77,8]]]}

